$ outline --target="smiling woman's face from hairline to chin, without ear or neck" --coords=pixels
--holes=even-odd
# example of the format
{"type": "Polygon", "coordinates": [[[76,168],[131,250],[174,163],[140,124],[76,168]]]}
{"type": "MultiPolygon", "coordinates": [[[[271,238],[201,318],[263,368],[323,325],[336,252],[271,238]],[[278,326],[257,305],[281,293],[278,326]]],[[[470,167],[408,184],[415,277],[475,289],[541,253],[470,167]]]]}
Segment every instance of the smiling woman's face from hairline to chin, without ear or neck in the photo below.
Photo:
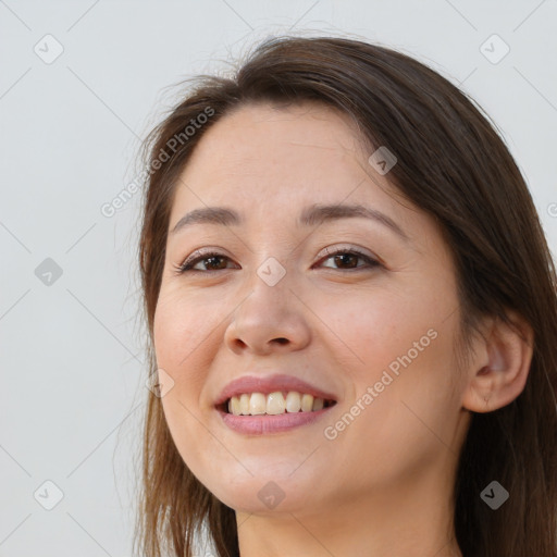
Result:
{"type": "Polygon", "coordinates": [[[236,510],[339,508],[393,500],[416,482],[450,485],[467,426],[455,270],[434,221],[393,195],[394,161],[380,151],[370,163],[360,145],[331,109],[247,106],[206,133],[181,175],[169,231],[209,207],[239,222],[169,232],[154,347],[161,382],[174,384],[161,400],[187,467],[236,510]],[[321,206],[333,209],[299,222],[321,206]],[[352,206],[371,216],[341,213],[352,206]],[[178,274],[191,255],[194,270],[178,274]],[[227,425],[215,407],[224,387],[274,374],[336,404],[283,431],[265,428],[284,414],[227,425]]]}

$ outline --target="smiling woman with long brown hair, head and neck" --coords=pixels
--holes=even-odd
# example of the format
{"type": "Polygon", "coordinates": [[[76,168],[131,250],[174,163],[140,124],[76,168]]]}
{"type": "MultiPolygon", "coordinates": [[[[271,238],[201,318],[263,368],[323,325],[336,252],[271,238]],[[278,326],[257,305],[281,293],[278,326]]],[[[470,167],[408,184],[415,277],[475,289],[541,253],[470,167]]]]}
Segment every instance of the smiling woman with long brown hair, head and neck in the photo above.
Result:
{"type": "Polygon", "coordinates": [[[282,37],[147,147],[141,555],[555,557],[557,281],[472,101],[282,37]]]}

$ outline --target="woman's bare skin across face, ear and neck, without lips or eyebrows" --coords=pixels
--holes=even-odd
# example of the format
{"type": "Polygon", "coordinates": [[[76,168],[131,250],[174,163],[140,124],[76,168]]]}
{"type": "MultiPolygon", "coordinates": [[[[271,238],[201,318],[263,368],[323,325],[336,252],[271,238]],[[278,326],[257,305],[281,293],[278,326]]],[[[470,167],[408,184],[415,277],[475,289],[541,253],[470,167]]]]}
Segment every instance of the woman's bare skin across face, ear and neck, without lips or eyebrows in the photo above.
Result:
{"type": "Polygon", "coordinates": [[[246,219],[169,234],[153,331],[158,366],[174,381],[161,398],[172,437],[199,481],[236,511],[243,557],[461,556],[450,494],[470,411],[510,403],[528,375],[529,344],[487,319],[469,367],[457,369],[450,250],[370,154],[351,121],[330,108],[247,106],[206,133],[176,189],[169,231],[206,206],[246,219]],[[352,202],[387,214],[408,240],[363,218],[295,225],[309,205],[352,202]],[[381,264],[324,251],[337,247],[381,264]],[[178,275],[198,248],[224,259],[178,275]],[[270,257],[286,271],[274,286],[257,274],[270,257]],[[436,333],[429,346],[362,405],[428,331],[436,333]],[[230,430],[213,407],[224,385],[278,370],[334,393],[337,405],[285,433],[230,430]],[[324,429],[358,400],[364,409],[327,438],[324,429]],[[284,495],[274,508],[258,497],[268,482],[284,495]]]}

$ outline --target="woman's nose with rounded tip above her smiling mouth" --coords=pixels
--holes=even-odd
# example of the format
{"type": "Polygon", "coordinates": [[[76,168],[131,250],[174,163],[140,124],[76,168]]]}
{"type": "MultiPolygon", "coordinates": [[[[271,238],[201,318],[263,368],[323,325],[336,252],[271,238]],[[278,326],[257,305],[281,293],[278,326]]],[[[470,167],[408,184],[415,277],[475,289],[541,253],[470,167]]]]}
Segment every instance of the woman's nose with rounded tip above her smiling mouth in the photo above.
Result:
{"type": "Polygon", "coordinates": [[[311,337],[308,309],[286,276],[269,286],[256,275],[250,286],[224,333],[226,346],[238,355],[260,356],[305,348],[311,337]]]}

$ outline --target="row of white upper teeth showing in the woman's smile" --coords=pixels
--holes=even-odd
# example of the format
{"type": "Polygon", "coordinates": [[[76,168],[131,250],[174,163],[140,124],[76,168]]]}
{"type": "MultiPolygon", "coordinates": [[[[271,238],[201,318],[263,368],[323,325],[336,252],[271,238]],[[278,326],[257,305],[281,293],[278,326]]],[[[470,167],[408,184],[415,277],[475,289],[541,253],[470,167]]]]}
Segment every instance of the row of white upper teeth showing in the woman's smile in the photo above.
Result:
{"type": "Polygon", "coordinates": [[[262,393],[244,393],[239,396],[233,396],[228,400],[228,412],[240,414],[277,414],[287,412],[311,412],[321,410],[324,406],[323,398],[313,398],[312,395],[290,391],[286,398],[280,391],[263,395],[262,393]]]}

